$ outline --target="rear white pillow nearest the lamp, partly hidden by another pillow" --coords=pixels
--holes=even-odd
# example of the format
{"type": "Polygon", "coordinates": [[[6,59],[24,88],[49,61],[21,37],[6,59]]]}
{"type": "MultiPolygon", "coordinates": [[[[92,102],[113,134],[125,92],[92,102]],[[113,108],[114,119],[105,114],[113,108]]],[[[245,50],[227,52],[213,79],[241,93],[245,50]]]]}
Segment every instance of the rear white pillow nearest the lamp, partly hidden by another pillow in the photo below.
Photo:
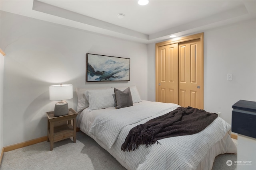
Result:
{"type": "MultiPolygon", "coordinates": [[[[111,89],[110,87],[108,87],[111,89]]],[[[108,88],[76,88],[76,95],[77,95],[77,112],[83,111],[85,108],[89,107],[89,102],[86,99],[84,92],[86,90],[99,90],[99,89],[108,89],[108,88]]]]}

